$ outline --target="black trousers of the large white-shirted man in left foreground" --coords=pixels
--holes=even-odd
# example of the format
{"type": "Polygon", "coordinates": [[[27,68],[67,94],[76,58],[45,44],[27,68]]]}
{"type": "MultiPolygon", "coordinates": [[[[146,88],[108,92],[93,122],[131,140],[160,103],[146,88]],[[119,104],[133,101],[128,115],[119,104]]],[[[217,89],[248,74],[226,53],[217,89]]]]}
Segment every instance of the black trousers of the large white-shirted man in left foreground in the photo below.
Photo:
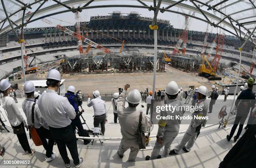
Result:
{"type": "Polygon", "coordinates": [[[67,155],[67,148],[73,158],[73,163],[75,165],[79,164],[79,157],[77,151],[77,139],[74,130],[71,125],[62,128],[50,127],[51,136],[57,143],[59,153],[65,164],[69,164],[70,160],[67,155]],[[66,148],[67,146],[67,148],[66,148]]]}

